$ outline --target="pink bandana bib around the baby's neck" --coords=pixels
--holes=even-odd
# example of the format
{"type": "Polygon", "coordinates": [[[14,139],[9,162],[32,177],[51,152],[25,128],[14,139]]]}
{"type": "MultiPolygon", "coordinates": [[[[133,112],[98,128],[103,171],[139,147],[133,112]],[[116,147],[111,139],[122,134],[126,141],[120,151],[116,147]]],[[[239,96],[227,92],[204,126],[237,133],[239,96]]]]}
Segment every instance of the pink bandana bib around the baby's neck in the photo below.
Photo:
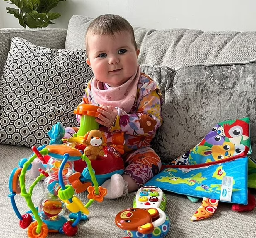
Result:
{"type": "Polygon", "coordinates": [[[119,107],[129,113],[135,101],[139,79],[140,65],[137,72],[119,87],[104,90],[103,83],[94,77],[91,80],[94,101],[99,105],[119,107]]]}

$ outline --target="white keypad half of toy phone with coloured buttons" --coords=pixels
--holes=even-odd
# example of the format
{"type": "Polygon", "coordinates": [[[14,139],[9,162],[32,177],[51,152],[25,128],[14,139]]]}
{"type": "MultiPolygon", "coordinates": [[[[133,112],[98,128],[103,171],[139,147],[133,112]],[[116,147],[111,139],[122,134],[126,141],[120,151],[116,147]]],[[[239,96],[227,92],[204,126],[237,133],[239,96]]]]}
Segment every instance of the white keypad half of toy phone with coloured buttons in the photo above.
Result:
{"type": "Polygon", "coordinates": [[[141,187],[133,200],[133,207],[135,208],[150,208],[157,207],[165,210],[166,197],[159,187],[144,186],[141,187]]]}

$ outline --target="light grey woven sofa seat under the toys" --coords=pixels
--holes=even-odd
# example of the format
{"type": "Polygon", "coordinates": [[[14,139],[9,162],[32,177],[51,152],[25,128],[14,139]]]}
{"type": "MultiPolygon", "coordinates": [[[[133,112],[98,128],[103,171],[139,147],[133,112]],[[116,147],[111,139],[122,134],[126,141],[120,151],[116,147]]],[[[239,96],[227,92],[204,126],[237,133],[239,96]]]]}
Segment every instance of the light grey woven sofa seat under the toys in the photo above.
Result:
{"type": "MultiPolygon", "coordinates": [[[[28,237],[28,229],[21,229],[19,226],[19,219],[13,211],[10,198],[7,197],[10,191],[6,181],[8,181],[13,168],[18,166],[19,159],[28,158],[32,154],[32,151],[29,148],[18,148],[18,146],[3,144],[0,144],[0,151],[0,161],[4,161],[1,165],[0,176],[0,184],[2,184],[0,213],[0,219],[2,221],[1,237],[28,237]]],[[[34,179],[26,174],[27,190],[32,182],[34,182],[34,179]]],[[[44,197],[42,185],[43,181],[39,181],[33,189],[32,201],[35,206],[44,197]]],[[[169,216],[171,223],[170,231],[165,238],[242,238],[256,236],[255,225],[253,225],[255,224],[256,209],[246,213],[238,213],[231,210],[229,203],[219,203],[218,210],[212,218],[192,223],[190,218],[199,208],[201,201],[191,203],[185,196],[166,191],[165,194],[167,198],[165,212],[169,216]],[[234,225],[234,223],[237,225],[234,225]],[[248,224],[251,224],[251,229],[248,228],[248,224]]],[[[255,191],[253,194],[255,195],[255,191]]],[[[84,204],[88,202],[87,192],[75,194],[75,196],[81,199],[84,204]]],[[[135,194],[132,192],[118,199],[104,199],[102,203],[94,202],[88,208],[90,211],[89,220],[81,221],[78,224],[78,231],[74,238],[127,237],[127,234],[115,225],[115,216],[123,209],[132,207],[134,196],[135,194]]],[[[21,194],[17,194],[14,198],[21,215],[23,215],[29,210],[25,199],[21,194]]],[[[69,214],[70,212],[66,210],[64,216],[68,218],[69,214]]],[[[62,237],[66,238],[68,236],[50,232],[47,236],[47,238],[62,237]]]]}

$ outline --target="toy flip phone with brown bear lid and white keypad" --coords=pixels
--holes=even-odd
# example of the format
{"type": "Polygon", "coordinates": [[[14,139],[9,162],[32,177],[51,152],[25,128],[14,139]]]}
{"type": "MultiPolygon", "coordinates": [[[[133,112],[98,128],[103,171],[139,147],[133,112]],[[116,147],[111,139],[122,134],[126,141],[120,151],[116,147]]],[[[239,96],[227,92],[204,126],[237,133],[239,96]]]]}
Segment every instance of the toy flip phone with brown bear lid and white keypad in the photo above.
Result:
{"type": "Polygon", "coordinates": [[[165,237],[170,229],[170,221],[164,210],[166,197],[155,186],[141,187],[133,201],[133,208],[116,215],[116,225],[125,230],[128,237],[165,237]]]}

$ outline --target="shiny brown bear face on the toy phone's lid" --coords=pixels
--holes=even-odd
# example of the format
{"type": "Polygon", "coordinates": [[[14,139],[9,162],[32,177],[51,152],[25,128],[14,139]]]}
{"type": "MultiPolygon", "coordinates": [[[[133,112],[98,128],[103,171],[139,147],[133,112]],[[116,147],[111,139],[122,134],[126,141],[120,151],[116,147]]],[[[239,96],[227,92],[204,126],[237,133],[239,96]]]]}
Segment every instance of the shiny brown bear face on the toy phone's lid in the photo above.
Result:
{"type": "Polygon", "coordinates": [[[116,225],[123,230],[137,230],[139,226],[151,221],[150,213],[138,208],[128,208],[116,215],[116,225]]]}

